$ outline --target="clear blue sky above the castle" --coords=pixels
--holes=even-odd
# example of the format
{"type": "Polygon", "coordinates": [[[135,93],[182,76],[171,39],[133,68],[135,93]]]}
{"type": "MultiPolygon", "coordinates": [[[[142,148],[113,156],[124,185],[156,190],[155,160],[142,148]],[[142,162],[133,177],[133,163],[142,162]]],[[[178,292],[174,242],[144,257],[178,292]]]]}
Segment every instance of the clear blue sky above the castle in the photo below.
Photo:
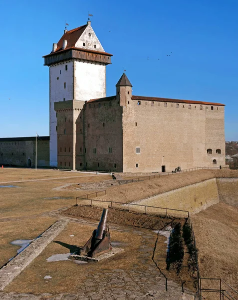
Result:
{"type": "Polygon", "coordinates": [[[78,27],[90,11],[113,54],[107,95],[115,94],[125,67],[133,94],[226,104],[226,140],[238,140],[237,0],[1,0],[0,11],[0,137],[49,134],[42,55],[65,20],[68,29],[78,27]]]}

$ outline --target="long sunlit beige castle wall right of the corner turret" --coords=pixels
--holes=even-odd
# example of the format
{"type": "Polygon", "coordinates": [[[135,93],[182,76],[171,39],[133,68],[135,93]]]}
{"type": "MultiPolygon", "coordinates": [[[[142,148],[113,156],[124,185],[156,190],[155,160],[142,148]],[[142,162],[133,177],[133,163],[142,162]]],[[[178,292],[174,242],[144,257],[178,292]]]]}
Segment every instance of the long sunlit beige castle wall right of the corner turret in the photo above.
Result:
{"type": "Polygon", "coordinates": [[[123,106],[124,172],[161,172],[162,165],[166,171],[225,165],[224,106],[211,110],[211,105],[200,109],[200,104],[128,101],[123,106]],[[218,148],[221,154],[215,154],[218,148]]]}

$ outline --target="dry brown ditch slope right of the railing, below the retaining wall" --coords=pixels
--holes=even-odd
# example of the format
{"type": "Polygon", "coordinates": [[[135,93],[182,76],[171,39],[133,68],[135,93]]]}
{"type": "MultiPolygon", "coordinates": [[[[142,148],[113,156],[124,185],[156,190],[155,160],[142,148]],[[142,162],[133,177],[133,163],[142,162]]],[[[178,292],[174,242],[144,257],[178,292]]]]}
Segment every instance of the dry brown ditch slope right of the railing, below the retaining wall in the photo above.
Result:
{"type": "Polygon", "coordinates": [[[192,222],[201,277],[221,277],[238,290],[238,207],[220,202],[192,216],[192,222]]]}

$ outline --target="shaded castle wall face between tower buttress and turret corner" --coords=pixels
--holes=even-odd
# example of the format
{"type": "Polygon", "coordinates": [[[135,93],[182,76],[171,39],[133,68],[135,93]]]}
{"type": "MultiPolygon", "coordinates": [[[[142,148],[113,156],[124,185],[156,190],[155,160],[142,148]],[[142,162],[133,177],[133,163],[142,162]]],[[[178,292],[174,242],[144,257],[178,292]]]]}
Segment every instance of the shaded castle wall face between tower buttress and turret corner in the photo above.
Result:
{"type": "Polygon", "coordinates": [[[122,155],[122,107],[119,102],[87,103],[84,110],[85,169],[122,171],[122,155]]]}

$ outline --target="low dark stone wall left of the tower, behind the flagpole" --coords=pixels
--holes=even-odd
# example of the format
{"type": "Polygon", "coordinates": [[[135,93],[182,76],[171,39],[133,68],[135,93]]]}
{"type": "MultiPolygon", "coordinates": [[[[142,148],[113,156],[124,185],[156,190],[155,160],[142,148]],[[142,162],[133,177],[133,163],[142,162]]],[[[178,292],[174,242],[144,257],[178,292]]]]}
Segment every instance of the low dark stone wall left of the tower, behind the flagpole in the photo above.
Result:
{"type": "MultiPolygon", "coordinates": [[[[35,166],[35,136],[0,138],[0,166],[35,166]]],[[[49,166],[49,136],[37,137],[37,166],[49,166]]]]}

